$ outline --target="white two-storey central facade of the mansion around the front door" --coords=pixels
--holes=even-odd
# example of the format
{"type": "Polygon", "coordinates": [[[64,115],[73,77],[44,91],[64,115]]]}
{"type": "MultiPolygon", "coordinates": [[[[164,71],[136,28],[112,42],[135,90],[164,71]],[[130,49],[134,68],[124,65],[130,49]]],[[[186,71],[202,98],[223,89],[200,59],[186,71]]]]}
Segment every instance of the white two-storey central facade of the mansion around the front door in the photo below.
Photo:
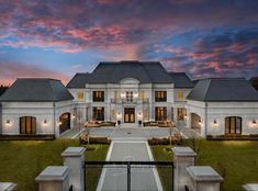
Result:
{"type": "Polygon", "coordinates": [[[78,112],[82,122],[93,120],[93,108],[104,108],[104,121],[124,123],[124,109],[135,110],[135,123],[138,121],[155,121],[155,108],[166,108],[168,121],[177,120],[177,108],[186,108],[186,97],[191,89],[175,89],[173,83],[141,83],[137,79],[122,79],[120,83],[90,83],[85,88],[69,89],[75,98],[78,112]],[[93,101],[93,91],[104,91],[104,101],[93,101]],[[166,101],[155,101],[155,92],[165,91],[166,101]],[[177,100],[175,91],[183,93],[182,100],[177,100]],[[133,92],[133,100],[126,101],[126,92],[133,92]],[[78,99],[78,93],[83,93],[83,99],[78,99]]]}

